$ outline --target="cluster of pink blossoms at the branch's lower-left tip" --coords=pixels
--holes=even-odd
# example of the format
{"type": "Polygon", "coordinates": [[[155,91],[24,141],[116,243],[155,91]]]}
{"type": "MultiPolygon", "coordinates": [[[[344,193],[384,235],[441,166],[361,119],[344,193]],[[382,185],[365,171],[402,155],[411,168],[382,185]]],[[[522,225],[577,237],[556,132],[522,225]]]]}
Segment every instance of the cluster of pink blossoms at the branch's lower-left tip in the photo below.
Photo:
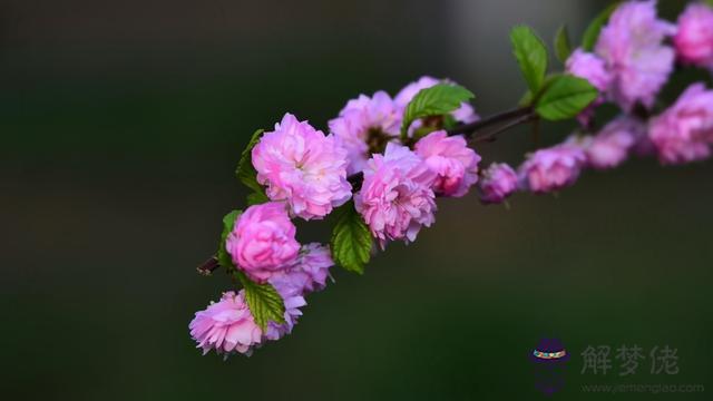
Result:
{"type": "Polygon", "coordinates": [[[197,312],[191,335],[204,352],[250,354],[268,340],[292,332],[305,296],[326,285],[334,265],[329,247],[318,243],[300,245],[290,221],[286,202],[268,202],[248,207],[235,222],[225,248],[235,266],[256,283],[268,283],[283,300],[284,323],[270,322],[263,331],[247,307],[244,290],[223,297],[197,312]]]}

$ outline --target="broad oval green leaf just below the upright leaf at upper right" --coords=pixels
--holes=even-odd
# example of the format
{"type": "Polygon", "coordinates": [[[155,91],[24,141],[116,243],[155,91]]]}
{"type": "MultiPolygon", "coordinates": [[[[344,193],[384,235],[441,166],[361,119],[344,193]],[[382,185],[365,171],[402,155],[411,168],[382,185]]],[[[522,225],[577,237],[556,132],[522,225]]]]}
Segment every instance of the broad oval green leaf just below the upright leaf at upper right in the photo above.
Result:
{"type": "Polygon", "coordinates": [[[543,95],[535,102],[535,111],[548,120],[557,121],[576,117],[598,96],[586,79],[570,75],[553,77],[543,95]]]}

